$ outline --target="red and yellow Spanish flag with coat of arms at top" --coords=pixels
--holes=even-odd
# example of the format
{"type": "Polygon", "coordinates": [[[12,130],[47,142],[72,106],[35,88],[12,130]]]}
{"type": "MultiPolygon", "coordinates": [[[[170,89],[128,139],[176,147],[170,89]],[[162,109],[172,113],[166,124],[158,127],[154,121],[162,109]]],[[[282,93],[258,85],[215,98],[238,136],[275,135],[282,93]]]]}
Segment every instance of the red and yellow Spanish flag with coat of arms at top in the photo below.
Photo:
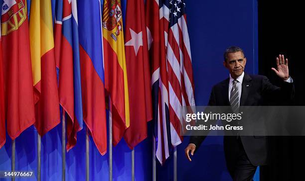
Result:
{"type": "Polygon", "coordinates": [[[130,125],[121,0],[104,0],[102,21],[105,88],[111,97],[113,144],[117,145],[130,125]]]}

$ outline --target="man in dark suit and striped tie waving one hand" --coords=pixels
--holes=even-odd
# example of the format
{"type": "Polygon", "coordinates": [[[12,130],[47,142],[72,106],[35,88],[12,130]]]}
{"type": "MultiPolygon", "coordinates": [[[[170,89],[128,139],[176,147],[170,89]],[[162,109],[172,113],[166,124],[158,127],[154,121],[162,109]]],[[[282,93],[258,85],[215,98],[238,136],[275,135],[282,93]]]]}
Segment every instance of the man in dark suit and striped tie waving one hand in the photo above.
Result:
{"type": "MultiPolygon", "coordinates": [[[[244,73],[247,59],[239,47],[229,47],[224,53],[223,65],[230,77],[216,84],[211,91],[209,106],[231,106],[233,112],[239,106],[266,105],[270,98],[291,99],[294,95],[293,80],[289,76],[288,59],[276,58],[277,69],[272,70],[283,80],[281,87],[274,86],[267,77],[244,73]]],[[[206,136],[191,136],[185,148],[185,156],[191,161],[206,136]]],[[[224,136],[224,153],[227,168],[233,181],[252,181],[257,166],[267,165],[267,139],[265,136],[224,136]]]]}

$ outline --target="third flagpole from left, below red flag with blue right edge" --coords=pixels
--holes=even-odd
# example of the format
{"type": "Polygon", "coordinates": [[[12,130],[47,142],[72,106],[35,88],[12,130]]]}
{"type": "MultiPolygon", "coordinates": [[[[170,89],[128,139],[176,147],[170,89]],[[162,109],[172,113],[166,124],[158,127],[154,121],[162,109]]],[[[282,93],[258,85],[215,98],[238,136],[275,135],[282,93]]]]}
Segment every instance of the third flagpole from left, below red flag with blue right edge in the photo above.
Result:
{"type": "Polygon", "coordinates": [[[62,128],[61,128],[61,163],[62,163],[62,174],[61,180],[66,180],[66,117],[65,117],[65,110],[62,109],[62,128]]]}

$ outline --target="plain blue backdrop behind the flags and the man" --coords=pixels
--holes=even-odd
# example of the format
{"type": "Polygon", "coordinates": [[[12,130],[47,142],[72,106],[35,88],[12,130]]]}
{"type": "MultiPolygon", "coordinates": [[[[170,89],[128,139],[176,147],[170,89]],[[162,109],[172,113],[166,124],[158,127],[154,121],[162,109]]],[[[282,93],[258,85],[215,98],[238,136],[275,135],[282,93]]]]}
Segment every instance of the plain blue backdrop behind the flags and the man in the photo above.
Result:
{"type": "MultiPolygon", "coordinates": [[[[126,0],[122,3],[126,7],[126,0]]],[[[222,65],[227,47],[242,47],[248,60],[246,72],[258,72],[257,0],[186,0],[186,11],[195,101],[196,105],[206,105],[212,86],[229,76],[222,65]]],[[[152,131],[150,123],[148,126],[148,138],[135,148],[136,181],[152,180],[152,131]]],[[[177,147],[178,181],[232,180],[225,166],[223,137],[207,137],[191,163],[184,156],[188,140],[186,137],[177,147]]],[[[41,179],[60,180],[61,125],[47,133],[41,142],[41,179]]],[[[16,139],[15,170],[36,172],[36,143],[37,132],[33,126],[16,139]]],[[[130,180],[131,150],[124,140],[113,149],[113,159],[114,181],[130,180]]],[[[163,166],[157,164],[157,181],[173,180],[172,166],[172,156],[163,166]]],[[[10,170],[10,167],[11,140],[7,136],[4,147],[0,149],[0,171],[10,170]]],[[[108,171],[108,154],[101,156],[90,140],[90,180],[108,180],[108,171]]],[[[85,129],[79,132],[77,145],[66,153],[66,180],[85,180],[85,129]]]]}

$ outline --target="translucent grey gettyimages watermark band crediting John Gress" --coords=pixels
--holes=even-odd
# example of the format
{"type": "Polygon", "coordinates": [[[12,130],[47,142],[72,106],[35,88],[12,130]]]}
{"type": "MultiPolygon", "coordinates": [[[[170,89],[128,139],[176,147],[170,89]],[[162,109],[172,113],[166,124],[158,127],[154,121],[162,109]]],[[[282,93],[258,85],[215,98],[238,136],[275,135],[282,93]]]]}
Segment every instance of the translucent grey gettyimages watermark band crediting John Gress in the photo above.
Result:
{"type": "Polygon", "coordinates": [[[185,106],[179,119],[181,136],[305,136],[305,106],[185,106]]]}

